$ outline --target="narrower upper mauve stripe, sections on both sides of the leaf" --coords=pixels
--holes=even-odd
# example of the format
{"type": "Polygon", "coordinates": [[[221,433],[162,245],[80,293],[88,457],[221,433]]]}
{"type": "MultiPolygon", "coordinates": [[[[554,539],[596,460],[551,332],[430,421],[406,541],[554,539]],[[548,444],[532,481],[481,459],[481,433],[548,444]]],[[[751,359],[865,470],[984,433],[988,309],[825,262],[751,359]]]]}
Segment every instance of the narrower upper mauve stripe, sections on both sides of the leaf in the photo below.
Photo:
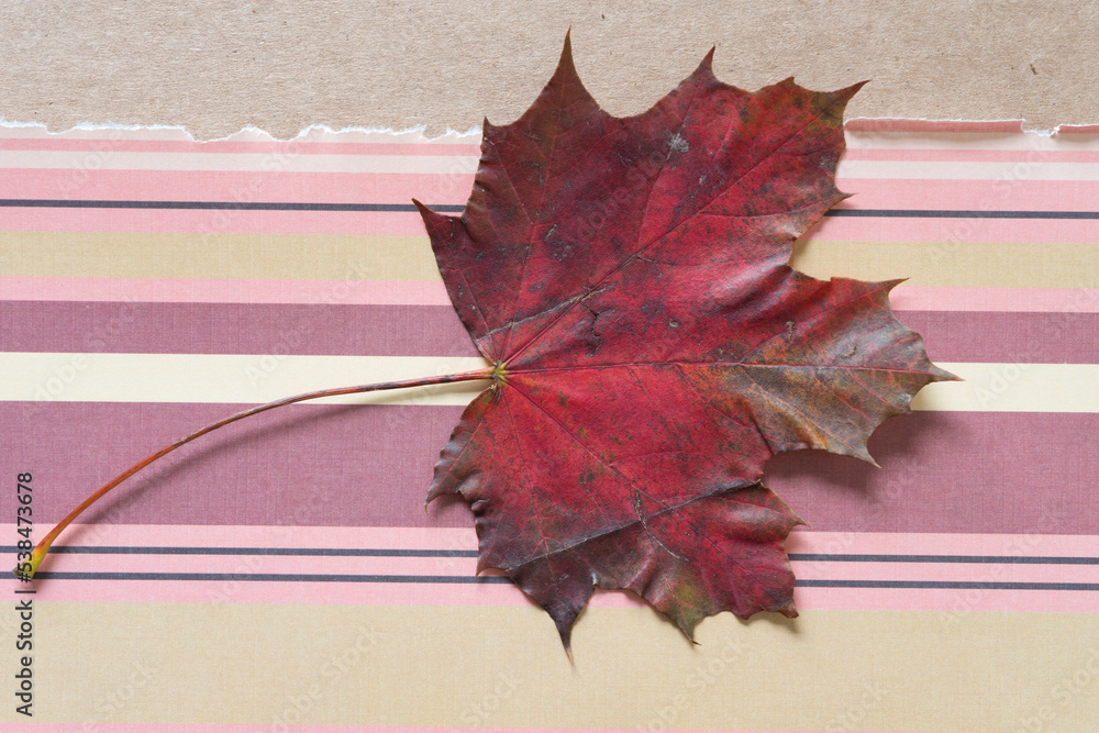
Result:
{"type": "MultiPolygon", "coordinates": [[[[903,311],[934,360],[1090,364],[1099,313],[903,311]]],[[[0,301],[3,349],[476,356],[449,306],[0,301]]]]}

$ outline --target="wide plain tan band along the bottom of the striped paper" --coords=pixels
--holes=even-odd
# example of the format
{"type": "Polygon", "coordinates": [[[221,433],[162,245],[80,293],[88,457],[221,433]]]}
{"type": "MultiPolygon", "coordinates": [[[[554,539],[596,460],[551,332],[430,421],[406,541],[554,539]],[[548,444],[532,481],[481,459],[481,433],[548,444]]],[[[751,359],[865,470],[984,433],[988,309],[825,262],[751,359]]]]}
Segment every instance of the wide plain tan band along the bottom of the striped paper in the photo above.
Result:
{"type": "MultiPolygon", "coordinates": [[[[1015,731],[1036,730],[1023,722],[1045,709],[1058,730],[1084,731],[1099,690],[1094,614],[821,610],[745,624],[725,613],[692,647],[646,608],[593,608],[573,667],[530,607],[34,612],[36,722],[1015,731]],[[958,698],[975,679],[979,696],[958,698]],[[51,693],[63,684],[64,704],[51,693]]],[[[16,662],[0,657],[0,675],[14,679],[16,662]]]]}

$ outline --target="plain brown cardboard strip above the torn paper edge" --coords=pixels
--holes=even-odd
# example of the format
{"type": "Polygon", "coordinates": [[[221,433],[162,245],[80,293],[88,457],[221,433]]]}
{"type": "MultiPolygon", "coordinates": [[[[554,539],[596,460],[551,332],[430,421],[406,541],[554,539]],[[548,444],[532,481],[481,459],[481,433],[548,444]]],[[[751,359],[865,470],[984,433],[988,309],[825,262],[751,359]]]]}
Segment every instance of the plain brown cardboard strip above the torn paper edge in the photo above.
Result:
{"type": "Polygon", "coordinates": [[[872,79],[848,118],[1099,122],[1099,5],[1050,0],[778,2],[162,2],[0,8],[0,115],[51,130],[178,124],[469,130],[518,116],[571,26],[585,84],[639,112],[711,45],[754,89],[872,79]]]}

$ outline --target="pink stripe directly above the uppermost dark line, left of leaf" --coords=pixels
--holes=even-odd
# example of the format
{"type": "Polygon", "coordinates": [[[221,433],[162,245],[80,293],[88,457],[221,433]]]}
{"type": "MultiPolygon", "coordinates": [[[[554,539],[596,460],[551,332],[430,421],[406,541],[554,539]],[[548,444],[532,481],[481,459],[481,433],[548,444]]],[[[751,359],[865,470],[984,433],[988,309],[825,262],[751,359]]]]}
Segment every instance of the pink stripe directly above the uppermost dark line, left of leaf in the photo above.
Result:
{"type": "Polygon", "coordinates": [[[0,198],[108,201],[465,203],[473,174],[0,168],[0,198]]]}

